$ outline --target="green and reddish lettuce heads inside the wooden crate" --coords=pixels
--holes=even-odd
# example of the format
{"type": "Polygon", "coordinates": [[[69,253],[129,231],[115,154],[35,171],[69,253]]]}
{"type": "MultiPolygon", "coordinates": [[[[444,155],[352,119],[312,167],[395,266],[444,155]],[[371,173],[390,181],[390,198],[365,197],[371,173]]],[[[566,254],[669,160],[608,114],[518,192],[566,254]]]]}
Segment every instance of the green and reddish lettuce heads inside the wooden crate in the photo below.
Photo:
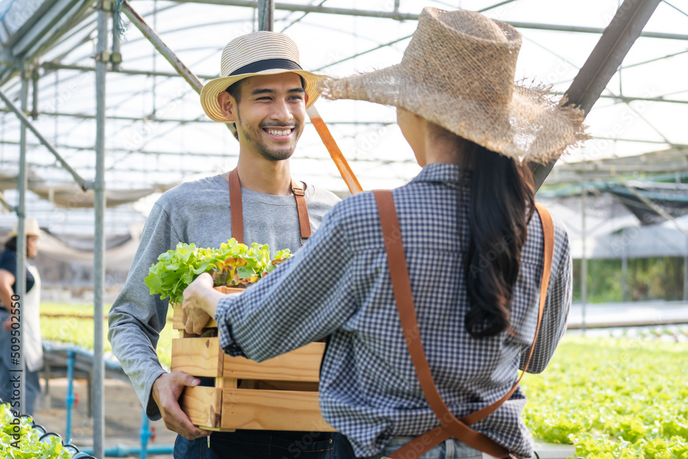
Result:
{"type": "Polygon", "coordinates": [[[229,239],[219,248],[197,248],[195,244],[177,244],[158,257],[149,269],[145,282],[151,295],[169,297],[171,303],[181,303],[184,289],[202,273],[212,273],[215,286],[246,287],[270,273],[275,266],[290,257],[288,249],[279,250],[270,260],[268,244],[239,244],[229,239]]]}

